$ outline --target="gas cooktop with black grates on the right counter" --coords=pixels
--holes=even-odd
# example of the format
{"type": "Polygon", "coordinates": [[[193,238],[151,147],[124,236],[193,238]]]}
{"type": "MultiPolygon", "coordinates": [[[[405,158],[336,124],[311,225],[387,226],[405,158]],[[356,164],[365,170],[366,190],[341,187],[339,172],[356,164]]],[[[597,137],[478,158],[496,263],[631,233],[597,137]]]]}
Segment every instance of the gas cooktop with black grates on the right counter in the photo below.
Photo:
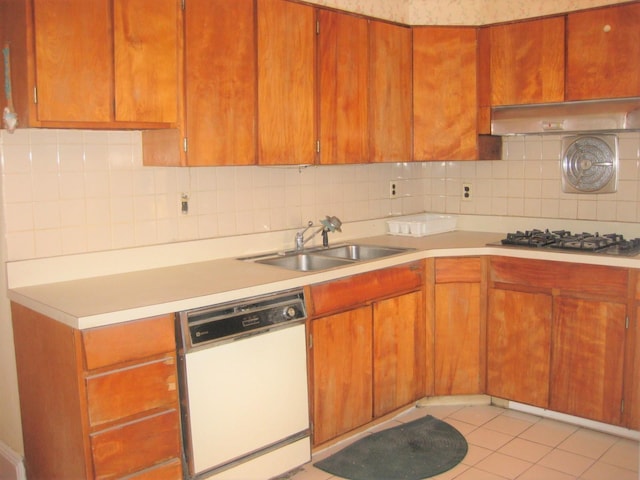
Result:
{"type": "Polygon", "coordinates": [[[568,230],[525,230],[507,233],[499,243],[525,248],[553,248],[586,253],[633,256],[640,254],[640,238],[625,239],[618,233],[571,233],[568,230]]]}

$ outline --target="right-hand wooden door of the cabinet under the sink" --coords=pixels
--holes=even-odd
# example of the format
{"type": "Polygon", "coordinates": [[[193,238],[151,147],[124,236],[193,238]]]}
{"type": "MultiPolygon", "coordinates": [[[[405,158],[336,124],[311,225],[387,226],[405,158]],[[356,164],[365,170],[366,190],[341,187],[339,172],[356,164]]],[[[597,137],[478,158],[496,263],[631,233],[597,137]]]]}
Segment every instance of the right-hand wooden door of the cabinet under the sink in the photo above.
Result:
{"type": "Polygon", "coordinates": [[[373,415],[426,393],[426,323],[422,292],[373,305],[373,415]]]}

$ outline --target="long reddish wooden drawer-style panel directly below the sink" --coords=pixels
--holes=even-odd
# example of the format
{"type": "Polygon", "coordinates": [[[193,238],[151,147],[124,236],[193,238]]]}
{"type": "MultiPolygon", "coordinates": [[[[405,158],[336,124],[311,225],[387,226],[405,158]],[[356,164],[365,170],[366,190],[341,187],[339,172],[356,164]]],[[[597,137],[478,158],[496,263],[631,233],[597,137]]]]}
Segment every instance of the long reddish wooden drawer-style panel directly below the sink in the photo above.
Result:
{"type": "Polygon", "coordinates": [[[316,316],[338,312],[378,298],[417,290],[423,285],[424,268],[424,262],[412,262],[313,285],[312,312],[316,316]]]}

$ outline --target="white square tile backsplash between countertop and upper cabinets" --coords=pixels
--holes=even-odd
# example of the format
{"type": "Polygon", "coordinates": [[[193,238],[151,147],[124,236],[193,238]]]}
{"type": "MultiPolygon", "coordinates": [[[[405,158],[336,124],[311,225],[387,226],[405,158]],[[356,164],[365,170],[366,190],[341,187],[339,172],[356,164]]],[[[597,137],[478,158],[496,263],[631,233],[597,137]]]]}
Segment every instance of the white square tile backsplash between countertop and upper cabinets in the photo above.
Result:
{"type": "MultiPolygon", "coordinates": [[[[618,192],[561,191],[561,137],[505,137],[503,160],[143,167],[140,133],[0,131],[7,258],[22,260],[433,211],[637,223],[640,133],[619,135],[618,192]],[[389,181],[399,185],[389,199],[389,181]],[[462,201],[462,183],[473,198],[462,201]],[[181,213],[181,195],[189,213],[181,213]]],[[[640,226],[638,228],[640,236],[640,226]]]]}

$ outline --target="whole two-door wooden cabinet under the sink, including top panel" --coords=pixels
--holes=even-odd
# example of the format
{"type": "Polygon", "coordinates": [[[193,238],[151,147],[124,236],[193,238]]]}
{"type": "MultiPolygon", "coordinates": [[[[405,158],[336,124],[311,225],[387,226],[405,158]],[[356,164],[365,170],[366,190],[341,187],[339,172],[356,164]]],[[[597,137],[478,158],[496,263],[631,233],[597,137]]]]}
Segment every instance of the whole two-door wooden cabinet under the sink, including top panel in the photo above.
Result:
{"type": "Polygon", "coordinates": [[[414,262],[309,287],[314,445],[424,396],[423,279],[414,262]]]}

